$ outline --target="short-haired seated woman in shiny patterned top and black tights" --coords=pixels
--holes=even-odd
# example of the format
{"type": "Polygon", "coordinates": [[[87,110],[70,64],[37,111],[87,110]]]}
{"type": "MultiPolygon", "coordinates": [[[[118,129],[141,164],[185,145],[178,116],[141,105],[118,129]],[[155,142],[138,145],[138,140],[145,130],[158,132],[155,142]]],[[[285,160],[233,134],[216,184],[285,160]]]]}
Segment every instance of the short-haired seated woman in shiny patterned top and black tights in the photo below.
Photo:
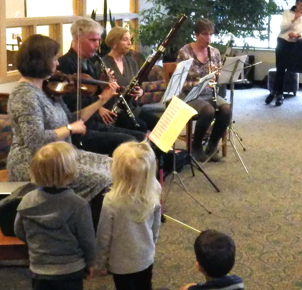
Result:
{"type": "MultiPolygon", "coordinates": [[[[181,98],[191,90],[200,78],[209,73],[209,58],[207,48],[210,44],[211,36],[214,33],[214,25],[210,20],[200,19],[194,25],[194,36],[196,42],[186,44],[178,53],[176,62],[193,58],[193,63],[188,72],[187,80],[184,84],[181,98]]],[[[213,61],[212,71],[221,66],[220,53],[217,48],[210,46],[211,60],[213,61]]],[[[197,161],[204,162],[212,155],[211,161],[220,161],[217,153],[217,144],[225,132],[230,119],[230,105],[217,96],[218,111],[215,112],[212,99],[212,88],[206,86],[201,95],[188,102],[188,104],[198,111],[198,118],[194,130],[192,142],[192,154],[197,161]],[[215,118],[212,133],[205,151],[203,150],[202,140],[208,127],[215,118]],[[214,154],[214,155],[213,155],[214,154]]]]}

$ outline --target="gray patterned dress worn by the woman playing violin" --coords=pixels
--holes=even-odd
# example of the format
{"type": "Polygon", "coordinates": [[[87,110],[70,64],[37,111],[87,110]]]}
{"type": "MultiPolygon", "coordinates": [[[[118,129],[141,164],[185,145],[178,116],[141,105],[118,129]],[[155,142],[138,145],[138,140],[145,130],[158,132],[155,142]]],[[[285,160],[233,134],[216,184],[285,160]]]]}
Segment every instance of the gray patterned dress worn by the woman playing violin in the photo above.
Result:
{"type": "MultiPolygon", "coordinates": [[[[76,120],[61,98],[47,97],[42,89],[21,82],[9,96],[8,114],[13,141],[8,154],[10,181],[30,181],[29,161],[37,149],[57,141],[54,129],[76,120]]],[[[65,139],[71,143],[70,136],[65,139]]],[[[111,183],[111,158],[106,155],[78,150],[79,176],[70,184],[77,194],[91,200],[111,183]]]]}

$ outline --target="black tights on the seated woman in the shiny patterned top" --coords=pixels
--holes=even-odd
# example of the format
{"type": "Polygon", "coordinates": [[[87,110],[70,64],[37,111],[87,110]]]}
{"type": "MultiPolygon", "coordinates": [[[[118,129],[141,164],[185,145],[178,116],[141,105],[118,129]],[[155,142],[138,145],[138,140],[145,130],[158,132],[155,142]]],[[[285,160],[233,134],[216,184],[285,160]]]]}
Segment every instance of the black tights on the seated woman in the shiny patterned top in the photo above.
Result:
{"type": "Polygon", "coordinates": [[[194,130],[193,146],[201,148],[207,129],[215,118],[212,133],[209,139],[211,147],[215,148],[225,132],[230,120],[230,105],[223,104],[219,107],[219,111],[215,112],[212,105],[207,104],[201,108],[198,114],[197,122],[194,130]]]}

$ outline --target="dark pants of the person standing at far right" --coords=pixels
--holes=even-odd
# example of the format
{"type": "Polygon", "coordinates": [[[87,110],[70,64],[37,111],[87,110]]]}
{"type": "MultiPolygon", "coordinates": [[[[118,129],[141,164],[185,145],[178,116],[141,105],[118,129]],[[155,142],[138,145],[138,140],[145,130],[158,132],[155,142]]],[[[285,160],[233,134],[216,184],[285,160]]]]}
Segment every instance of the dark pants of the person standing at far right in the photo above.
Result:
{"type": "Polygon", "coordinates": [[[286,41],[283,38],[277,38],[276,46],[276,78],[274,83],[274,93],[283,95],[285,71],[289,63],[291,51],[295,43],[286,41]]]}

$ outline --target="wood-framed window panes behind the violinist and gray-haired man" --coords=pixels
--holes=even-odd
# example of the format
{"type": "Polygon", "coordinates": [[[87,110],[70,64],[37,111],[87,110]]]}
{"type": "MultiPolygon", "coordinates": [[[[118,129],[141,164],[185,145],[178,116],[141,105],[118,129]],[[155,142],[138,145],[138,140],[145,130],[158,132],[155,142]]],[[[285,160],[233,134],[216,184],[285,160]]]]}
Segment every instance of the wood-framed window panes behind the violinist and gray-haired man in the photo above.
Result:
{"type": "MultiPolygon", "coordinates": [[[[127,23],[130,19],[133,26],[138,22],[137,0],[107,0],[112,17],[118,25],[127,23]]],[[[70,23],[76,15],[91,15],[97,11],[97,21],[103,20],[104,0],[0,0],[0,9],[5,14],[0,21],[0,30],[6,31],[6,37],[0,38],[0,83],[18,80],[20,74],[16,71],[16,54],[22,39],[39,33],[49,36],[60,43],[59,54],[65,54],[71,44],[70,23]],[[5,4],[5,5],[3,5],[5,4]]],[[[108,25],[109,17],[108,17],[108,25]]],[[[109,29],[108,29],[109,31],[109,29]]]]}

